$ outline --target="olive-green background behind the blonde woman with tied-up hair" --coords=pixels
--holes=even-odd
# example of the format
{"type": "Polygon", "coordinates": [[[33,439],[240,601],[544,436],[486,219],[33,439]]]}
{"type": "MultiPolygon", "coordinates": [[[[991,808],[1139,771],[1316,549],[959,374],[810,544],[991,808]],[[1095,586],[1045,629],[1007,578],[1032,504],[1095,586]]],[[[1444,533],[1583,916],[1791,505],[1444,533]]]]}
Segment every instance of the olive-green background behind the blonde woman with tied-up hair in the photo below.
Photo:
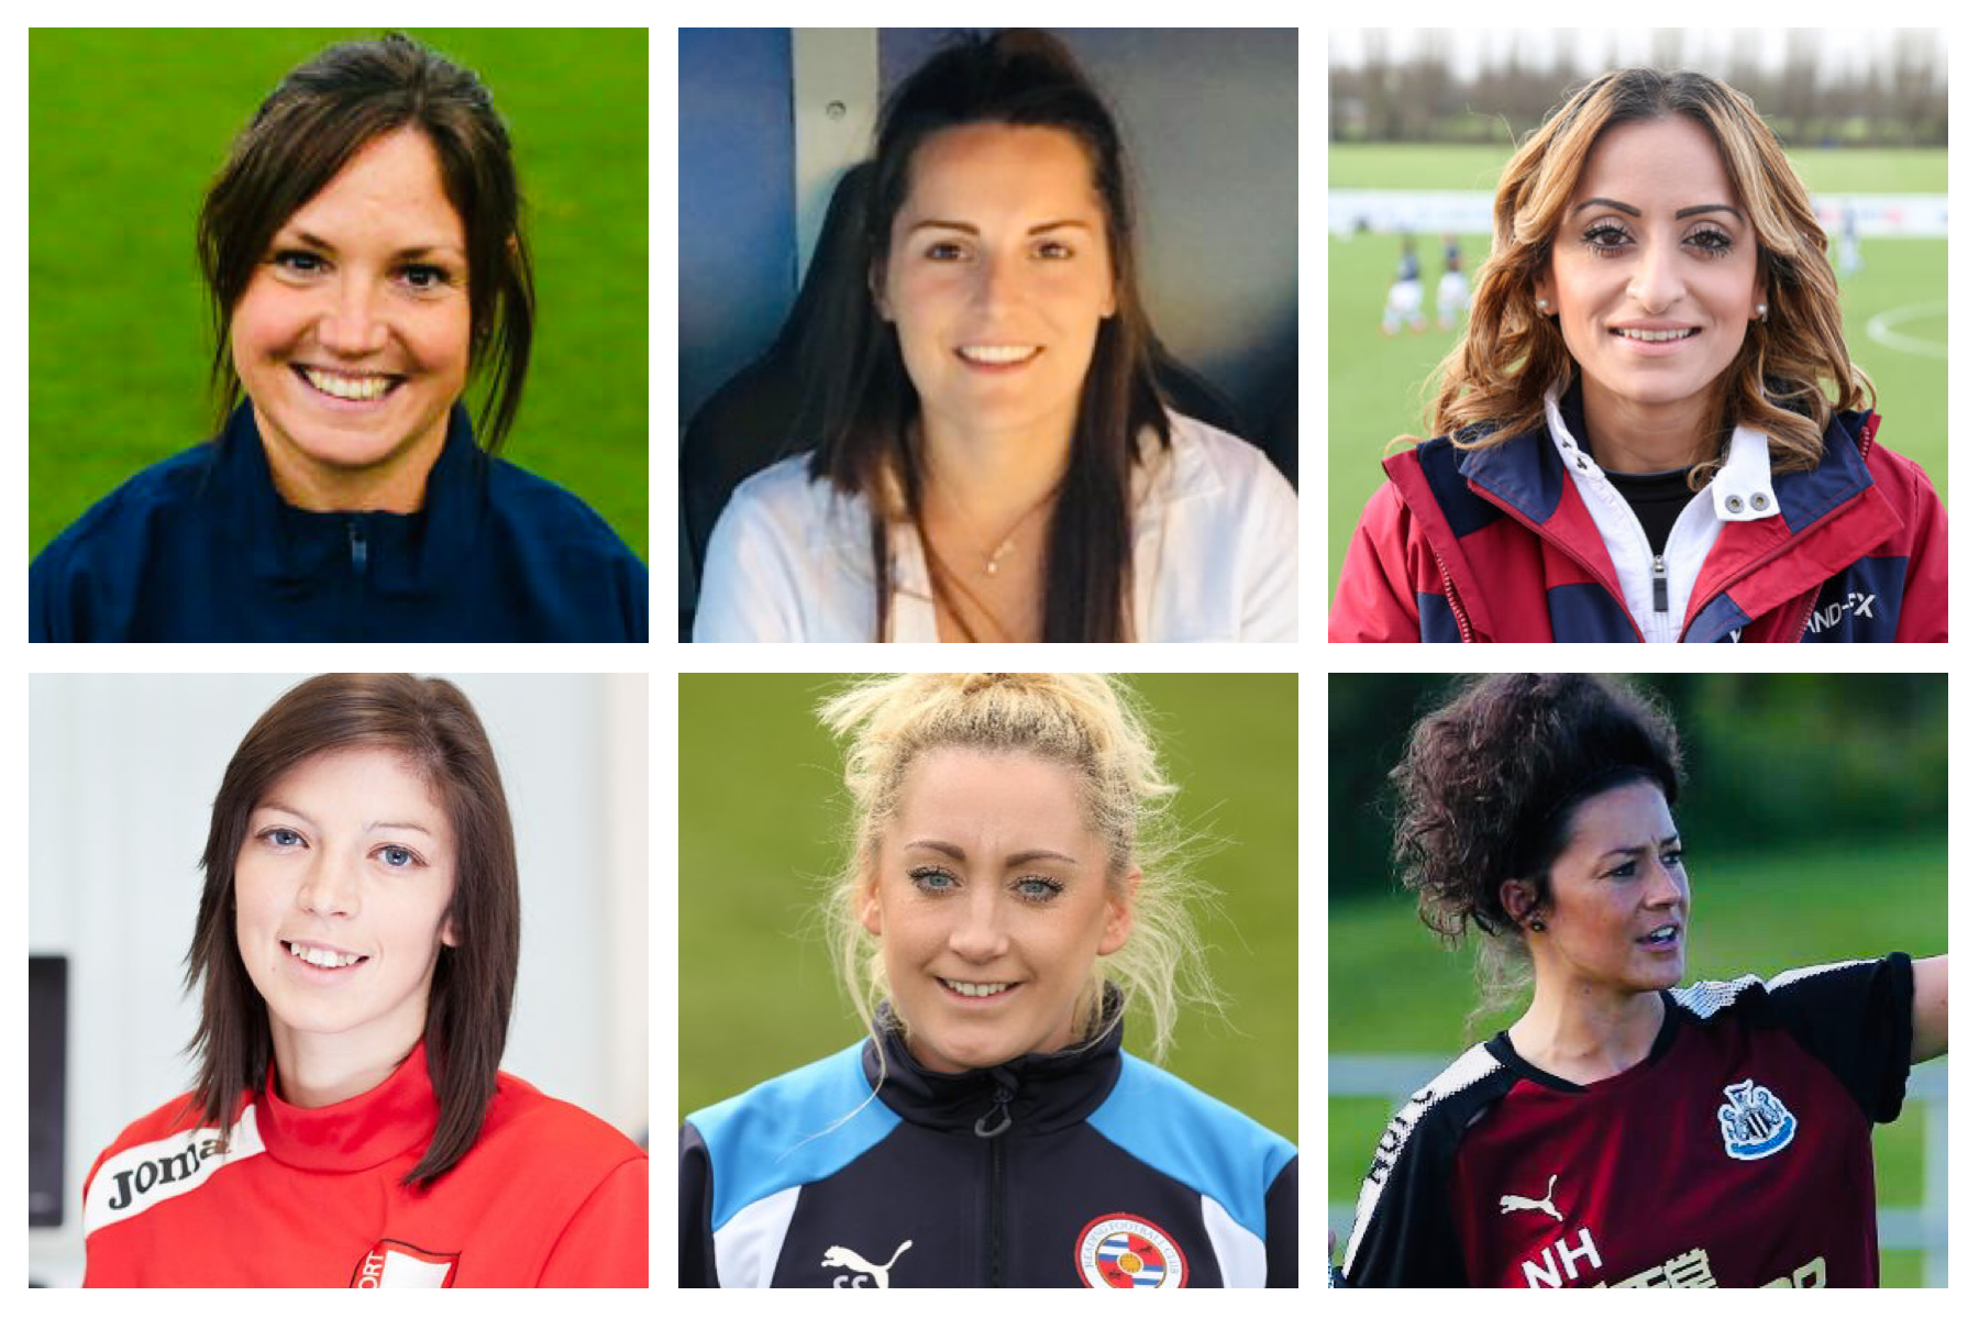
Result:
{"type": "MultiPolygon", "coordinates": [[[[1227,1019],[1183,1013],[1166,1067],[1298,1138],[1298,687],[1292,675],[1148,675],[1181,819],[1217,839],[1195,871],[1227,1019]]],[[[811,710],[833,675],[681,677],[679,1112],[859,1039],[815,910],[841,861],[839,752],[811,710]]],[[[1144,1053],[1130,1015],[1126,1047],[1144,1053]]]]}

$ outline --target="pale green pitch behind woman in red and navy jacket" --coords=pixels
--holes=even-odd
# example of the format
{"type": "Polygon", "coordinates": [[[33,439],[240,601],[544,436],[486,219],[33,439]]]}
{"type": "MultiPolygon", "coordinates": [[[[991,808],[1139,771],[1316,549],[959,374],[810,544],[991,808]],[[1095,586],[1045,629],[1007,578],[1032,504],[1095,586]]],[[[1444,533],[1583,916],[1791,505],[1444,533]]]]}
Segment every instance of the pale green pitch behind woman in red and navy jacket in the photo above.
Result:
{"type": "MultiPolygon", "coordinates": [[[[1334,188],[1449,188],[1490,192],[1508,150],[1498,146],[1366,146],[1332,144],[1328,182],[1334,188]]],[[[1793,154],[1811,192],[1945,192],[1943,150],[1811,150],[1793,154]]],[[[1474,275],[1490,253],[1484,234],[1461,235],[1464,269],[1474,275]]],[[[1462,327],[1435,327],[1435,271],[1441,235],[1419,235],[1425,269],[1427,334],[1379,332],[1387,285],[1401,241],[1393,234],[1328,237],[1328,404],[1326,404],[1326,540],[1328,598],[1362,509],[1381,485],[1381,457],[1395,435],[1427,437],[1425,406],[1435,400],[1433,374],[1462,327]],[[1425,390],[1427,382],[1427,390],[1425,390]]],[[[1949,503],[1949,370],[1943,356],[1888,348],[1868,336],[1868,321],[1896,307],[1945,303],[1949,243],[1945,239],[1862,239],[1864,269],[1842,281],[1848,352],[1876,384],[1882,414],[1880,443],[1916,459],[1949,503]]],[[[1896,327],[1926,342],[1947,342],[1945,317],[1920,317],[1896,327]]]]}

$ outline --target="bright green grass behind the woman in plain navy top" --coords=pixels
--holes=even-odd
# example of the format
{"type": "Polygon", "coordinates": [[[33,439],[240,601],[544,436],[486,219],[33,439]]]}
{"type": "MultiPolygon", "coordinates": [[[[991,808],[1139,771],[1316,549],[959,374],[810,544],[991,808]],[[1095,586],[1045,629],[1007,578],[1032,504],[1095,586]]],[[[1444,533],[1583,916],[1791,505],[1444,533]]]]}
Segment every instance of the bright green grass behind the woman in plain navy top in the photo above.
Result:
{"type": "MultiPolygon", "coordinates": [[[[283,75],[378,30],[28,34],[28,548],[214,433],[194,230],[283,75]]],[[[418,30],[509,125],[536,342],[503,457],[647,554],[647,38],[418,30]]],[[[481,390],[469,390],[479,410],[481,390]]]]}

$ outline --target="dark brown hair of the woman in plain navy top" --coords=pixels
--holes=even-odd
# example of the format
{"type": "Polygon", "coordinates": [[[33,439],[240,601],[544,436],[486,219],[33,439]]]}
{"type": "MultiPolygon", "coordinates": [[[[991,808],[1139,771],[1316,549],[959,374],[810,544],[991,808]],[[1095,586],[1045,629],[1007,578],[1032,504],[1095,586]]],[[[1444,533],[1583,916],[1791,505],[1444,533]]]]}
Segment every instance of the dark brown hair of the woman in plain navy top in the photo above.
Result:
{"type": "Polygon", "coordinates": [[[522,406],[536,307],[509,131],[471,69],[396,32],[332,46],[281,79],[206,192],[200,271],[212,303],[210,374],[222,424],[241,396],[234,309],[275,232],[354,154],[398,129],[416,129],[431,142],[441,186],[467,232],[471,360],[487,380],[475,429],[489,451],[501,447],[522,406]]]}

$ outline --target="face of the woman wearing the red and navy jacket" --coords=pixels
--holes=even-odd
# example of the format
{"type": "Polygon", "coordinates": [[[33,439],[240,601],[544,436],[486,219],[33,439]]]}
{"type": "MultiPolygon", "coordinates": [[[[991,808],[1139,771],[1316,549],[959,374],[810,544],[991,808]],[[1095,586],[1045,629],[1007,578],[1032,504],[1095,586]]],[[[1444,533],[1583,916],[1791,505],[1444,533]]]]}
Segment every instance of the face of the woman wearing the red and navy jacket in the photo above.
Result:
{"type": "Polygon", "coordinates": [[[1704,127],[1672,115],[1603,133],[1534,293],[1591,408],[1702,410],[1763,299],[1757,234],[1704,127]]]}

